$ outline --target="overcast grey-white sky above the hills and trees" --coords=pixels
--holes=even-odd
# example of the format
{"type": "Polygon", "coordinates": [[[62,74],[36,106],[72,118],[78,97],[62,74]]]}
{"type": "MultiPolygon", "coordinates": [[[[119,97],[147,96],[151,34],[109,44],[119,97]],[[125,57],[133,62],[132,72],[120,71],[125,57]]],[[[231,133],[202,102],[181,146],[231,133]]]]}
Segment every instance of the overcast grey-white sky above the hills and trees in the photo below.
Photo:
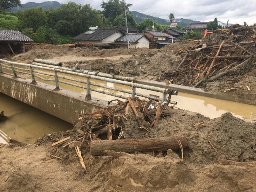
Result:
{"type": "MultiPolygon", "coordinates": [[[[47,0],[21,0],[27,2],[45,2],[47,0]]],[[[70,0],[57,0],[59,3],[67,3],[70,0]]],[[[102,0],[73,0],[76,3],[90,4],[93,9],[101,10],[102,0]]],[[[107,2],[107,0],[104,0],[107,2]]],[[[256,0],[125,0],[131,3],[130,11],[137,11],[153,17],[168,19],[173,13],[175,18],[192,19],[194,21],[218,21],[235,24],[253,25],[256,23],[256,0]]]]}

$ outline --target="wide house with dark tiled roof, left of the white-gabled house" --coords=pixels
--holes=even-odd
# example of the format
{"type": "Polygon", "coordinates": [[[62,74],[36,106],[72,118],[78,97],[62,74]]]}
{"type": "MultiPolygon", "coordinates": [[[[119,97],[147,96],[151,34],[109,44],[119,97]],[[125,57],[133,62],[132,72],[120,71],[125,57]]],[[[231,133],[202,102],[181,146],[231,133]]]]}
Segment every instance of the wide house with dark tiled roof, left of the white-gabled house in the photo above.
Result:
{"type": "Polygon", "coordinates": [[[124,33],[118,29],[97,29],[91,30],[81,33],[76,37],[72,38],[76,44],[79,43],[88,43],[97,46],[98,48],[113,48],[113,45],[109,43],[113,43],[116,39],[123,36],[124,33]]]}

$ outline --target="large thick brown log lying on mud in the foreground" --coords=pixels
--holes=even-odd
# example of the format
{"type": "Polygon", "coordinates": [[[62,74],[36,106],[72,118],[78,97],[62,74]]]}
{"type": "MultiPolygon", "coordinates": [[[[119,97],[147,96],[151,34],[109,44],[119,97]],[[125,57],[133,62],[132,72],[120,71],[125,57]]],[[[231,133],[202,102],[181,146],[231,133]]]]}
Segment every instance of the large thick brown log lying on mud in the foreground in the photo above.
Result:
{"type": "Polygon", "coordinates": [[[134,153],[134,152],[153,152],[167,151],[168,149],[179,150],[179,142],[183,148],[187,147],[187,139],[183,136],[156,137],[149,139],[118,139],[92,141],[90,145],[91,155],[105,155],[106,150],[116,152],[134,153]]]}

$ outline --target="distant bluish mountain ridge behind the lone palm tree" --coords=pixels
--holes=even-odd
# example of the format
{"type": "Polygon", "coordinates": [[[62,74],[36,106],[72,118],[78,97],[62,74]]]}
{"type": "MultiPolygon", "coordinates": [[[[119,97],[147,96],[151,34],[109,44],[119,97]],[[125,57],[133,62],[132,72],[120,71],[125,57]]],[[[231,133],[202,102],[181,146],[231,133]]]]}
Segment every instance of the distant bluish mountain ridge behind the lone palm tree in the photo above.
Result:
{"type": "MultiPolygon", "coordinates": [[[[163,24],[163,25],[170,25],[170,21],[168,19],[161,19],[159,17],[153,17],[150,15],[145,15],[142,13],[139,13],[137,11],[130,11],[130,14],[134,17],[135,21],[137,23],[140,23],[141,21],[144,21],[145,19],[154,19],[155,18],[155,22],[158,24],[163,24]]],[[[181,27],[187,27],[189,25],[189,23],[193,23],[193,22],[200,22],[200,21],[193,21],[191,19],[174,19],[173,21],[174,23],[177,22],[181,27]]]]}

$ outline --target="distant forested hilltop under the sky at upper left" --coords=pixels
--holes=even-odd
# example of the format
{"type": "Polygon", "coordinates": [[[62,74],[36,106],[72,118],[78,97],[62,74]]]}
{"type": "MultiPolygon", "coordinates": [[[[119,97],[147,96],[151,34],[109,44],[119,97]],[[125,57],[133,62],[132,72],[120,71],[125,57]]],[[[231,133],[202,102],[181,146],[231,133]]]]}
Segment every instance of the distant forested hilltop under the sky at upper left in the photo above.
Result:
{"type": "Polygon", "coordinates": [[[43,9],[50,9],[51,7],[53,9],[56,9],[58,7],[60,7],[60,3],[57,1],[46,1],[43,3],[35,3],[35,2],[27,2],[25,4],[21,4],[23,7],[15,7],[9,10],[9,12],[16,12],[18,10],[24,10],[24,9],[28,9],[28,8],[36,8],[36,7],[43,7],[43,9]]]}

